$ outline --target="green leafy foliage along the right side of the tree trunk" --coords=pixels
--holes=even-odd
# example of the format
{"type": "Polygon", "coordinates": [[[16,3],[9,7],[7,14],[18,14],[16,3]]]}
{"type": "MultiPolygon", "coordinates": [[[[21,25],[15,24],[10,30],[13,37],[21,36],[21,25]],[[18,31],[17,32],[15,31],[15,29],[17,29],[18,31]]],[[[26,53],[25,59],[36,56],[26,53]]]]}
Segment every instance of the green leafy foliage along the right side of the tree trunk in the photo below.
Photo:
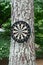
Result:
{"type": "Polygon", "coordinates": [[[39,44],[41,51],[36,50],[37,58],[43,58],[43,0],[34,0],[35,14],[35,43],[39,44]]]}

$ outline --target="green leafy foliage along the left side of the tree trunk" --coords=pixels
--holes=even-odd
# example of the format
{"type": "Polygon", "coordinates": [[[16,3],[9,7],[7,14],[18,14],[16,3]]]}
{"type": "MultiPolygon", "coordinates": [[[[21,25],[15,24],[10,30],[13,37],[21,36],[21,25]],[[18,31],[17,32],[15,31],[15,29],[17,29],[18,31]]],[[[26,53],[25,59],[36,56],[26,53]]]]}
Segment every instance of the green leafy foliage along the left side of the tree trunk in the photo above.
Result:
{"type": "Polygon", "coordinates": [[[0,59],[9,57],[10,32],[11,32],[11,7],[9,2],[0,2],[0,27],[5,32],[0,32],[0,59]]]}

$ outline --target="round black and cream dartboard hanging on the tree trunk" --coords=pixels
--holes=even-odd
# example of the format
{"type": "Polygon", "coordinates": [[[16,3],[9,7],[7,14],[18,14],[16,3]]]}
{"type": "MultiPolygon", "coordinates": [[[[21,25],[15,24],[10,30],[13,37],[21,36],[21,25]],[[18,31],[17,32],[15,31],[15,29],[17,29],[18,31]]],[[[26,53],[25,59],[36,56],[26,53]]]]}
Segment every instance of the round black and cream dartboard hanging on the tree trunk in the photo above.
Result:
{"type": "Polygon", "coordinates": [[[29,39],[31,30],[28,23],[24,21],[18,21],[12,25],[11,32],[12,38],[15,41],[17,41],[18,43],[24,43],[29,39]]]}

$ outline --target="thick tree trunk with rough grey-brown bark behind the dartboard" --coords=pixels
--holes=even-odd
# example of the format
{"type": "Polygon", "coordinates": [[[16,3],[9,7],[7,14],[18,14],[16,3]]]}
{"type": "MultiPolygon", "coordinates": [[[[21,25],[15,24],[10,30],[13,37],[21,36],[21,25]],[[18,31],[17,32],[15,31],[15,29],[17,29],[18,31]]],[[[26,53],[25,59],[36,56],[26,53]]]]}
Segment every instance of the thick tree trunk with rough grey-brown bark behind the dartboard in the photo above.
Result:
{"type": "Polygon", "coordinates": [[[25,21],[30,26],[31,34],[22,43],[11,37],[9,65],[35,65],[33,0],[12,0],[11,3],[11,25],[16,21],[25,21]]]}

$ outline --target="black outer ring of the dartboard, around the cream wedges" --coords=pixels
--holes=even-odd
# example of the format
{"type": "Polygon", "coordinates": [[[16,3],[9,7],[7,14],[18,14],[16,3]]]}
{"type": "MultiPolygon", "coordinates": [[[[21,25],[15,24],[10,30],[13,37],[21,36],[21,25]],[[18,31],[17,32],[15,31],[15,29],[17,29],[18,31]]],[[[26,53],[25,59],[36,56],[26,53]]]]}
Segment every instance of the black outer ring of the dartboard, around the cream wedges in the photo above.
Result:
{"type": "Polygon", "coordinates": [[[17,21],[17,22],[15,22],[15,23],[11,26],[11,36],[12,36],[13,40],[15,40],[15,41],[18,42],[18,43],[27,42],[28,39],[29,39],[29,37],[30,37],[30,35],[31,35],[30,26],[29,26],[29,24],[26,23],[25,21],[17,21]],[[17,27],[17,25],[20,25],[20,24],[21,24],[21,25],[23,24],[23,27],[26,26],[27,31],[28,31],[28,33],[26,34],[26,37],[24,36],[23,39],[21,39],[21,38],[17,39],[17,36],[15,37],[15,36],[14,36],[15,34],[13,33],[13,31],[15,31],[15,30],[14,30],[14,27],[17,27]]]}

